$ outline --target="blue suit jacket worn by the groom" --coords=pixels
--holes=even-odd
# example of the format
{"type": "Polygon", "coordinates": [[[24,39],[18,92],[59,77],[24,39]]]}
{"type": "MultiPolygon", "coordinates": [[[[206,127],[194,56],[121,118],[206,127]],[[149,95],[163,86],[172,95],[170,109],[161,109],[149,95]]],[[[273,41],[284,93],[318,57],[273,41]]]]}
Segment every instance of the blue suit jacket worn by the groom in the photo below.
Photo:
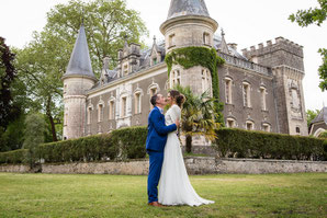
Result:
{"type": "Polygon", "coordinates": [[[165,116],[158,107],[155,107],[148,117],[148,135],[146,138],[146,149],[150,151],[164,152],[167,135],[177,129],[176,124],[166,126],[165,116]]]}

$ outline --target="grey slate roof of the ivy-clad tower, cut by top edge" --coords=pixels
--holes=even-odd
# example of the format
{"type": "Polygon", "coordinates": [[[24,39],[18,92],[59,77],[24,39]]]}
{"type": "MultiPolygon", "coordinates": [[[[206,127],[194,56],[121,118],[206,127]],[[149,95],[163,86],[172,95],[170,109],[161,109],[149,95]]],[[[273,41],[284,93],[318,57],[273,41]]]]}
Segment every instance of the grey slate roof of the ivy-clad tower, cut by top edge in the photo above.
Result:
{"type": "Polygon", "coordinates": [[[167,20],[182,15],[210,16],[204,0],[171,0],[167,20]]]}

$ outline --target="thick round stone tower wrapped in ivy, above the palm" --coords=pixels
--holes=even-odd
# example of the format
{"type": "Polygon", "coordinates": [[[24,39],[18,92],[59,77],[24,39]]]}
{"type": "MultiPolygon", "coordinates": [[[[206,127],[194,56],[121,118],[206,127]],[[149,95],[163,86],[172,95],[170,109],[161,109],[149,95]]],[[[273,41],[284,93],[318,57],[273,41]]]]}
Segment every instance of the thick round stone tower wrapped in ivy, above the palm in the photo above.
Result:
{"type": "MultiPolygon", "coordinates": [[[[212,48],[217,27],[217,22],[208,15],[204,0],[171,0],[168,18],[160,26],[166,38],[166,53],[191,46],[212,48]]],[[[199,94],[211,90],[212,77],[208,69],[202,66],[183,69],[173,65],[169,77],[170,88],[176,83],[190,85],[199,94]]]]}

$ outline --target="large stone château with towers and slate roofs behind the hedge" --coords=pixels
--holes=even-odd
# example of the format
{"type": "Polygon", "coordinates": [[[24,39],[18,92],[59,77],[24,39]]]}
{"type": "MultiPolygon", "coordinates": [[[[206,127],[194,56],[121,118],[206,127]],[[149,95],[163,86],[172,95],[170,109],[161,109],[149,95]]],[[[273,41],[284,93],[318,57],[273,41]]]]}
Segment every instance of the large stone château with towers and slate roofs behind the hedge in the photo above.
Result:
{"type": "Polygon", "coordinates": [[[64,80],[64,138],[109,133],[113,129],[147,125],[150,96],[166,95],[179,83],[194,93],[212,92],[207,68],[184,69],[173,65],[168,77],[165,57],[182,47],[214,48],[225,64],[217,68],[219,100],[224,103],[227,127],[306,136],[303,47],[277,37],[250,49],[227,44],[215,34],[204,0],[171,0],[167,20],[160,25],[164,43],[150,49],[125,43],[117,51],[119,65],[109,69],[109,58],[98,80],[81,25],[64,80]]]}

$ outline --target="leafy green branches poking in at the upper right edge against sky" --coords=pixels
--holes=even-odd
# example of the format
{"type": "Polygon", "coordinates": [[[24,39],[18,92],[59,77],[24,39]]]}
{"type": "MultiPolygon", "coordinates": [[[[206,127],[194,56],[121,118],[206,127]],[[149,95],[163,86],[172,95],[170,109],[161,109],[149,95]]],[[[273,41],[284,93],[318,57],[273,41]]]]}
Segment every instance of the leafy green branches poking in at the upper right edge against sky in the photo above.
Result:
{"type": "MultiPolygon", "coordinates": [[[[320,24],[326,20],[327,0],[318,0],[318,4],[319,8],[298,10],[296,14],[291,14],[289,20],[296,22],[302,27],[306,27],[311,24],[320,26],[320,24]]],[[[327,50],[326,48],[320,48],[318,53],[323,56],[323,65],[318,69],[319,78],[322,80],[319,88],[322,91],[325,91],[327,90],[327,50]]]]}

